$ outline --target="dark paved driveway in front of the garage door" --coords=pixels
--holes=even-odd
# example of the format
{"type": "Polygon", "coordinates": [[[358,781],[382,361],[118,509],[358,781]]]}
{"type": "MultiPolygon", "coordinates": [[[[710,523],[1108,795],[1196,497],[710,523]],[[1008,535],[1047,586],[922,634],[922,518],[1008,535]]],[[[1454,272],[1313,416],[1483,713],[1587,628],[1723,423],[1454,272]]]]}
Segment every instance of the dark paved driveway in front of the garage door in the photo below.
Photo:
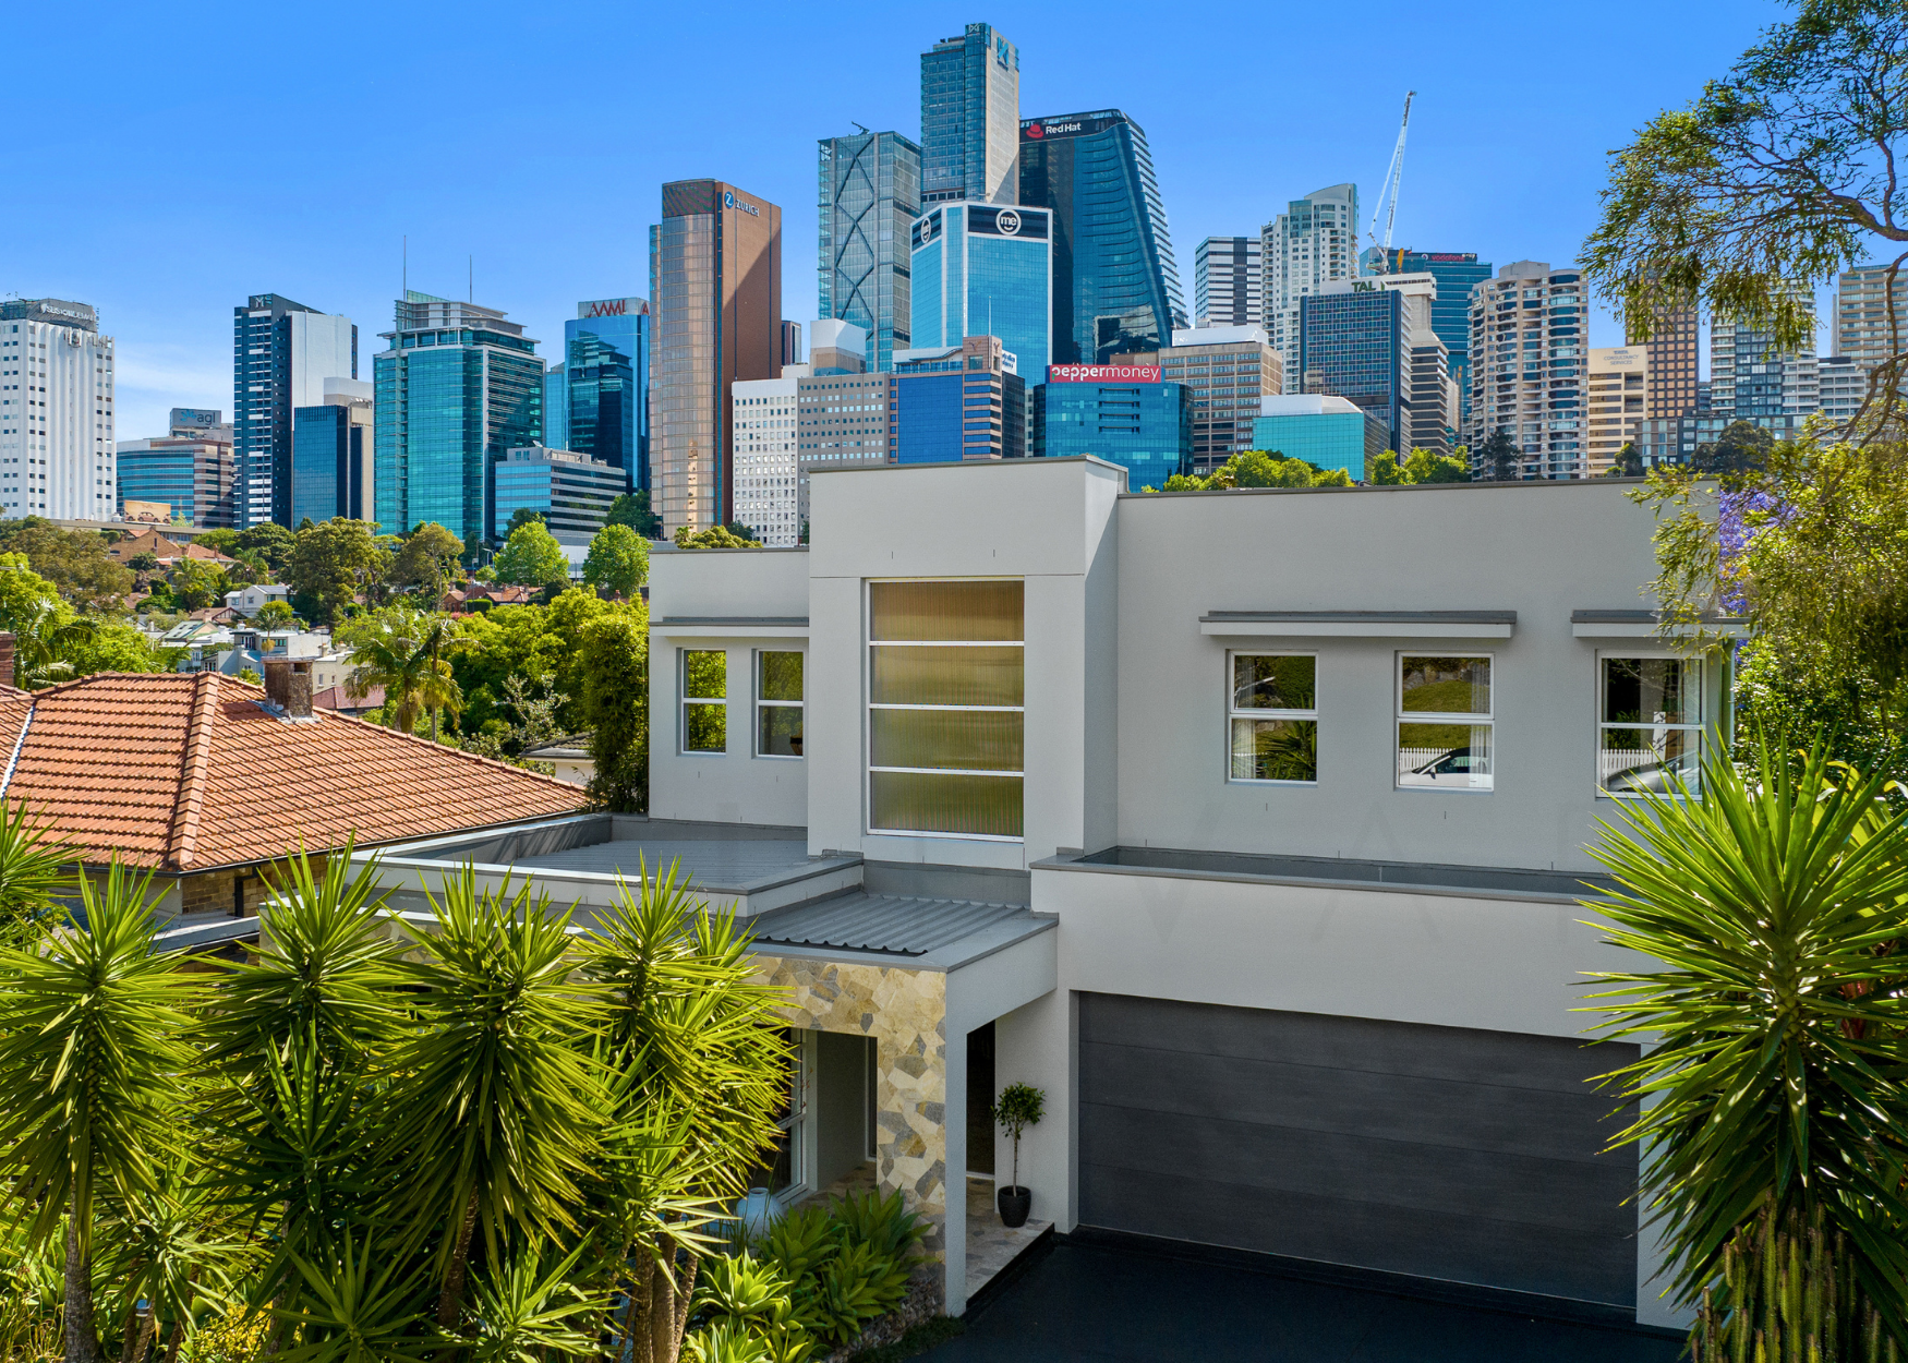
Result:
{"type": "Polygon", "coordinates": [[[931,1363],[1675,1363],[1681,1342],[1061,1241],[931,1363]]]}

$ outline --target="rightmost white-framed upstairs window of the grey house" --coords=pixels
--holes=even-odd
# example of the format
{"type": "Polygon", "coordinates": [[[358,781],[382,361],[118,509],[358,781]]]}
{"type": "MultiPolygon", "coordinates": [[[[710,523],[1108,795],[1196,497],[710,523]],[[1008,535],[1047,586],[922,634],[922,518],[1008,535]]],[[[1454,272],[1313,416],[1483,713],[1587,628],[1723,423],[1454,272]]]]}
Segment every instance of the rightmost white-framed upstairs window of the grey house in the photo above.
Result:
{"type": "Polygon", "coordinates": [[[1702,794],[1702,662],[1597,655],[1597,794],[1702,794]]]}

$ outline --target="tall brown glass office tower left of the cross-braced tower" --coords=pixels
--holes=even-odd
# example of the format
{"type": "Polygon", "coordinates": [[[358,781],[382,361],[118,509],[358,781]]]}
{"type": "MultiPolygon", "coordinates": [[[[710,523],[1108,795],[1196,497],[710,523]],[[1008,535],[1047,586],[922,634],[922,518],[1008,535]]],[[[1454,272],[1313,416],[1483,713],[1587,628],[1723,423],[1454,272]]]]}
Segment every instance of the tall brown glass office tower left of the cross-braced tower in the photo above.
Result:
{"type": "Polygon", "coordinates": [[[666,535],[735,517],[738,378],[782,376],[782,210],[719,179],[662,187],[649,229],[651,498],[666,535]]]}

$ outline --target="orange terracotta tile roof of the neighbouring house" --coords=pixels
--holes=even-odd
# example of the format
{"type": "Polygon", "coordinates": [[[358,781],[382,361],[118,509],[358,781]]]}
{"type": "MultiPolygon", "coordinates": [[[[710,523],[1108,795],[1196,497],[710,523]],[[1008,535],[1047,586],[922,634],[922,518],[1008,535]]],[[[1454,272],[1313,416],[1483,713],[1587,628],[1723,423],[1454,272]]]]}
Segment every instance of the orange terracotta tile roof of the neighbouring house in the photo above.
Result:
{"type": "Polygon", "coordinates": [[[576,786],[332,710],[286,722],[218,672],[0,695],[0,794],[88,861],[208,870],[574,811],[576,786]],[[25,739],[21,727],[25,725],[25,739]]]}

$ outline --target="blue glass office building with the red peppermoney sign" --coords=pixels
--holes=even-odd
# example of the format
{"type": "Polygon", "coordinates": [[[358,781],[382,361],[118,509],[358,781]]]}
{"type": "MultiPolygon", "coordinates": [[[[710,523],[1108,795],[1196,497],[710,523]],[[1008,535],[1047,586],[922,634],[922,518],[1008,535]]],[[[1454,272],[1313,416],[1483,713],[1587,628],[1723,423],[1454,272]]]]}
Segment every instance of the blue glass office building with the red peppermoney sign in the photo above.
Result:
{"type": "MultiPolygon", "coordinates": [[[[1137,365],[1122,368],[1147,372],[1137,365]]],[[[1173,473],[1192,472],[1192,393],[1156,378],[1040,384],[1034,454],[1091,454],[1118,464],[1131,493],[1166,487],[1173,473]]]]}

